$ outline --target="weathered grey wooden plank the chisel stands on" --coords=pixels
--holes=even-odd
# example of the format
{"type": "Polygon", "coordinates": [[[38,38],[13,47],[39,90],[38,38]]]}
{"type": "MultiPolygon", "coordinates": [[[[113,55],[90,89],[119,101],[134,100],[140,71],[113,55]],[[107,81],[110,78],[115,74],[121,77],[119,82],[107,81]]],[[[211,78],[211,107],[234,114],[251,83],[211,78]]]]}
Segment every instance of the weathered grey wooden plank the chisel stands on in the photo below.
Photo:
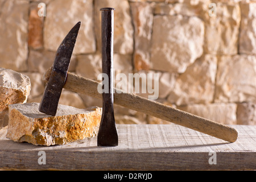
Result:
{"type": "Polygon", "coordinates": [[[5,127],[0,130],[0,168],[255,170],[256,126],[232,127],[239,133],[234,143],[175,124],[117,125],[117,147],[97,147],[97,137],[50,147],[16,143],[5,137],[5,127]],[[38,163],[39,151],[46,152],[46,164],[38,163]],[[209,164],[214,152],[216,164],[209,164]]]}

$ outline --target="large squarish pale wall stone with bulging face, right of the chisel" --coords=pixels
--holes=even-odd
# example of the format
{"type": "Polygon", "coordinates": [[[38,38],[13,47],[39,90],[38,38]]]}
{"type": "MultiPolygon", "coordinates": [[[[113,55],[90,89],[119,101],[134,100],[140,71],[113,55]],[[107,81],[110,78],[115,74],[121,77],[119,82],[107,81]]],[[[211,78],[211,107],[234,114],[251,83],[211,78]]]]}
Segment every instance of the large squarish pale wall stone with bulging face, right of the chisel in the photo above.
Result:
{"type": "Polygon", "coordinates": [[[204,23],[193,16],[154,16],[151,68],[183,73],[203,53],[204,23]]]}

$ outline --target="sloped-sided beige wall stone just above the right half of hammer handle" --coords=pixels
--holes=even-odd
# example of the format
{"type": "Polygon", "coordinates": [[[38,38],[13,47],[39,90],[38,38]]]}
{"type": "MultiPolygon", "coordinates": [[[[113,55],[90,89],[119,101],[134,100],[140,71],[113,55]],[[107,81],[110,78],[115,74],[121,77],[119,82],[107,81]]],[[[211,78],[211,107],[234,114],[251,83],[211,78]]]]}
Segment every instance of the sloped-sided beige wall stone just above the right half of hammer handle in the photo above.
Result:
{"type": "Polygon", "coordinates": [[[209,103],[213,101],[217,57],[204,55],[177,77],[168,101],[176,105],[209,103]]]}

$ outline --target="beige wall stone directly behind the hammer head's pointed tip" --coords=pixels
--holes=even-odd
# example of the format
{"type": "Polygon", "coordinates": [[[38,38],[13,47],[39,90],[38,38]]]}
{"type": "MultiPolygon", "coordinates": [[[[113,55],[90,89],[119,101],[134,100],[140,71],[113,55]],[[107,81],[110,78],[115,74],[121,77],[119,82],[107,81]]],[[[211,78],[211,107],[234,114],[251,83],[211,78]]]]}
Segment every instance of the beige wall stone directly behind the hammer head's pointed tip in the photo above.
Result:
{"type": "Polygon", "coordinates": [[[56,0],[46,6],[44,22],[44,47],[56,51],[73,26],[81,21],[79,35],[73,53],[96,51],[93,30],[93,1],[56,0]]]}

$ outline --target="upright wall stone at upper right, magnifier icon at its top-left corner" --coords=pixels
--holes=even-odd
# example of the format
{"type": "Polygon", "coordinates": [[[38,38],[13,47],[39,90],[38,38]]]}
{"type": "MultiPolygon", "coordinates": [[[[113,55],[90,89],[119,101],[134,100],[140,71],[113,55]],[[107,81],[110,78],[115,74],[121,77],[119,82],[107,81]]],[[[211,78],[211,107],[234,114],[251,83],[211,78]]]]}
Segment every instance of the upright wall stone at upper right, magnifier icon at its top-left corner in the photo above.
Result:
{"type": "Polygon", "coordinates": [[[240,20],[238,3],[230,5],[216,2],[216,16],[204,16],[204,52],[217,55],[237,54],[240,20]]]}

